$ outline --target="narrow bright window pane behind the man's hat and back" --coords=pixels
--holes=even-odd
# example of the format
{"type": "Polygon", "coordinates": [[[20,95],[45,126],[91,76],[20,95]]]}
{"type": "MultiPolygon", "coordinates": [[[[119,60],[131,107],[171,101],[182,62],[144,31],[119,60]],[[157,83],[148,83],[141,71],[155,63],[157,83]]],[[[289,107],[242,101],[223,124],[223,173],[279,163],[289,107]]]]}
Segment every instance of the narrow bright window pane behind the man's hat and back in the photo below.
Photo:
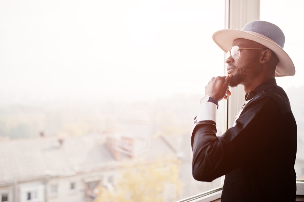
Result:
{"type": "Polygon", "coordinates": [[[293,115],[297,122],[298,128],[298,146],[295,162],[295,172],[297,179],[304,180],[304,108],[303,87],[304,80],[302,75],[302,53],[301,48],[304,46],[302,40],[302,25],[304,7],[303,1],[291,0],[261,0],[261,20],[272,22],[278,25],[285,34],[285,52],[290,56],[295,65],[295,75],[292,77],[276,78],[279,86],[286,91],[293,115]],[[284,11],[284,15],[282,12],[284,11]]]}

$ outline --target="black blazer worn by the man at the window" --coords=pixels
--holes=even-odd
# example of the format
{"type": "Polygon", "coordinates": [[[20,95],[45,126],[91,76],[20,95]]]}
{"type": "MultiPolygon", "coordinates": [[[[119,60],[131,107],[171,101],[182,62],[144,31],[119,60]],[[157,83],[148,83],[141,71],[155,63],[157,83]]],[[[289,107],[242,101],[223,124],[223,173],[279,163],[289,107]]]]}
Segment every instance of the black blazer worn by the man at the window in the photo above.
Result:
{"type": "Polygon", "coordinates": [[[195,125],[192,175],[207,182],[225,175],[222,202],[295,201],[297,126],[288,97],[271,79],[248,98],[222,136],[214,121],[195,125]]]}

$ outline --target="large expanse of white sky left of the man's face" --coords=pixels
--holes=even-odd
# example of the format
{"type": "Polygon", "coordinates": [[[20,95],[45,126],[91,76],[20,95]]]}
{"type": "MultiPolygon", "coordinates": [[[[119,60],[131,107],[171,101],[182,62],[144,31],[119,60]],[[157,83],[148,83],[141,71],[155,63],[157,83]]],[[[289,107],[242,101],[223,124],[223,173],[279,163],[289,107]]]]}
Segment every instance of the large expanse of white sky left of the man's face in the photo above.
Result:
{"type": "Polygon", "coordinates": [[[0,1],[0,103],[203,93],[223,28],[219,0],[0,1]]]}

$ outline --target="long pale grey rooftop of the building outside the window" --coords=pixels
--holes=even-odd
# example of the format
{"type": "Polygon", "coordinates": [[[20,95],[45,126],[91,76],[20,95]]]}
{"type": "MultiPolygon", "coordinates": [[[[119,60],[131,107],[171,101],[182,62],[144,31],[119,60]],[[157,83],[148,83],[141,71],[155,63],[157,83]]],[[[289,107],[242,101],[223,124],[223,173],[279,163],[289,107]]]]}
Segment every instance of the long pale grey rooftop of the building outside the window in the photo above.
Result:
{"type": "MultiPolygon", "coordinates": [[[[0,142],[0,182],[90,172],[119,165],[102,134],[68,137],[62,143],[55,137],[0,142]]],[[[175,155],[164,138],[152,138],[148,149],[132,157],[150,161],[175,155]]],[[[120,159],[130,159],[121,153],[120,159]]]]}

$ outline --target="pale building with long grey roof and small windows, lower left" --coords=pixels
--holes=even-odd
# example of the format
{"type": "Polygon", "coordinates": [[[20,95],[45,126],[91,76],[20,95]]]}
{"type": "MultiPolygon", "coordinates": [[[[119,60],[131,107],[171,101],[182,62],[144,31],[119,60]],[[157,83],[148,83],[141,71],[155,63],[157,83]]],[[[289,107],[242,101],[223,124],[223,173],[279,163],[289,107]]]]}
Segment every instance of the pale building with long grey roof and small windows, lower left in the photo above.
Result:
{"type": "Polygon", "coordinates": [[[98,134],[0,142],[0,201],[92,201],[97,186],[113,189],[120,160],[181,156],[164,138],[149,141],[98,134]]]}

